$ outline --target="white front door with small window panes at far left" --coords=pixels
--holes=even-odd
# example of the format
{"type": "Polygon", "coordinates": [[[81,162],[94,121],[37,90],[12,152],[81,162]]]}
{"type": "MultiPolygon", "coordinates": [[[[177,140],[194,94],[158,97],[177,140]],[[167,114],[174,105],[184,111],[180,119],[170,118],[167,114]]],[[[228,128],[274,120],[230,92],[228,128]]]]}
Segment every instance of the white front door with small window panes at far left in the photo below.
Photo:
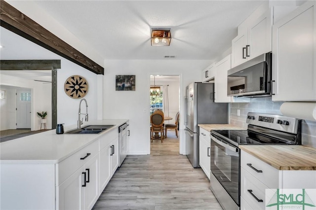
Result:
{"type": "Polygon", "coordinates": [[[31,128],[31,90],[16,91],[16,128],[31,128]]]}

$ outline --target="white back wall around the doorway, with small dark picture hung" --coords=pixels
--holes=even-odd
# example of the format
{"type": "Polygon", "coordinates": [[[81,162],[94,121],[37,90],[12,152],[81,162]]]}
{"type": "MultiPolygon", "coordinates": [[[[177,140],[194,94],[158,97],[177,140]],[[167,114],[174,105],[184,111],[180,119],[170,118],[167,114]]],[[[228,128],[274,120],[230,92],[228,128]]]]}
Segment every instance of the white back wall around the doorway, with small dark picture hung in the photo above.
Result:
{"type": "MultiPolygon", "coordinates": [[[[180,75],[180,114],[185,87],[201,80],[205,60],[106,60],[104,77],[105,119],[129,119],[128,154],[150,154],[150,75],[180,75]],[[136,75],[136,91],[115,91],[115,76],[136,75]]],[[[180,116],[181,116],[180,115],[180,116]]],[[[180,118],[180,153],[185,151],[183,118],[180,118]]]]}

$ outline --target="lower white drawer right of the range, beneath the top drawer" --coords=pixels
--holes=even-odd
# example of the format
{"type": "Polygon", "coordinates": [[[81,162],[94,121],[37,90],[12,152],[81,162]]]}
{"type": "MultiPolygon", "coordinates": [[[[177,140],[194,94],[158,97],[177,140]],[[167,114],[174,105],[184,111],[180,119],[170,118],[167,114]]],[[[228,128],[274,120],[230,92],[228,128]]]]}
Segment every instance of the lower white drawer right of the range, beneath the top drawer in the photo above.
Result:
{"type": "Polygon", "coordinates": [[[244,169],[240,170],[240,183],[240,197],[246,200],[253,209],[265,210],[265,191],[268,187],[244,169]],[[257,201],[254,196],[262,202],[257,201]]]}

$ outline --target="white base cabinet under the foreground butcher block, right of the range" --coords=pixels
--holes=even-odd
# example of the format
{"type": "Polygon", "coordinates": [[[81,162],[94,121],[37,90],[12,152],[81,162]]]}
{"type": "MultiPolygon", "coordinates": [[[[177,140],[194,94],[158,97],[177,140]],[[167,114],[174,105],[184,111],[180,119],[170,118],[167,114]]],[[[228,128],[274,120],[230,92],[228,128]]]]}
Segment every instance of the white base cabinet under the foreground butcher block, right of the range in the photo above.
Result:
{"type": "Polygon", "coordinates": [[[266,189],[303,188],[316,188],[316,171],[277,170],[269,164],[241,150],[241,210],[265,210],[266,189]],[[299,177],[299,179],[297,177],[299,177]]]}

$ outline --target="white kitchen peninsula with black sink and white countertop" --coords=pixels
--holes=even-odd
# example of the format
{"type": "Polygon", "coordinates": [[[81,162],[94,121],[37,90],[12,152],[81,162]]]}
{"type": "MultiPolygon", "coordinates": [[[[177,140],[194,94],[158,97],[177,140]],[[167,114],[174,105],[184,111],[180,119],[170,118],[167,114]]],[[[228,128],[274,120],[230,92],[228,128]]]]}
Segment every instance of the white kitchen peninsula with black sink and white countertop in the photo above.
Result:
{"type": "Polygon", "coordinates": [[[118,168],[118,126],[126,122],[89,121],[114,125],[100,134],[51,130],[2,142],[1,209],[92,209],[118,168]]]}

